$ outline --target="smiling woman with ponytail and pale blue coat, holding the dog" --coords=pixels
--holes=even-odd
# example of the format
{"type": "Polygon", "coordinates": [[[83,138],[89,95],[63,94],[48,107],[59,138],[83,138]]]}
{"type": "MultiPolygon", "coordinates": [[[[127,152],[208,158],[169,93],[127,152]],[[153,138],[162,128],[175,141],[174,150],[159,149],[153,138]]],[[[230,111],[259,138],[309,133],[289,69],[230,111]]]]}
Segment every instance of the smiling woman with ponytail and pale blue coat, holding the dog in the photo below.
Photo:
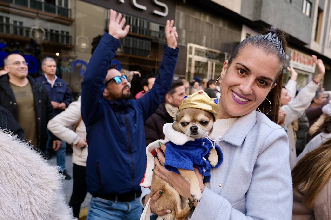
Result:
{"type": "MultiPolygon", "coordinates": [[[[212,169],[206,186],[196,172],[203,193],[190,219],[292,218],[289,142],[284,129],[276,124],[286,51],[284,33],[272,27],[242,41],[224,62],[218,120],[210,135],[220,140],[217,144],[224,160],[212,169]]],[[[165,160],[160,148],[157,153],[155,174],[181,196],[192,199],[187,181],[167,171],[160,164],[165,160]]],[[[161,191],[151,196],[151,212],[165,215],[171,211],[155,210],[161,191]]]]}

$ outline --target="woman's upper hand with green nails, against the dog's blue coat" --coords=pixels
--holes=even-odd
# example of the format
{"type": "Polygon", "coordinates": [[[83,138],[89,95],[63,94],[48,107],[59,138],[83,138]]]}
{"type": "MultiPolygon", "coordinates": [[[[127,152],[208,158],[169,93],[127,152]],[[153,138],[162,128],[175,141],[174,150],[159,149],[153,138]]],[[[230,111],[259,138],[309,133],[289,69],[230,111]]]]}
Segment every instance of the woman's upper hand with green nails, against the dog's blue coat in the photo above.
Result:
{"type": "MultiPolygon", "coordinates": [[[[161,148],[163,151],[166,150],[166,145],[162,144],[161,148]]],[[[178,173],[174,173],[171,171],[168,171],[163,165],[165,163],[165,157],[163,156],[161,149],[157,148],[156,149],[158,158],[155,157],[154,162],[155,162],[155,169],[154,173],[165,180],[167,183],[169,183],[175,190],[184,198],[192,200],[192,196],[190,193],[190,184],[184,177],[178,173]]],[[[195,173],[198,178],[199,186],[201,191],[204,190],[205,186],[202,182],[202,174],[199,173],[198,170],[195,170],[195,173]]],[[[197,202],[194,204],[196,206],[197,202]]]]}

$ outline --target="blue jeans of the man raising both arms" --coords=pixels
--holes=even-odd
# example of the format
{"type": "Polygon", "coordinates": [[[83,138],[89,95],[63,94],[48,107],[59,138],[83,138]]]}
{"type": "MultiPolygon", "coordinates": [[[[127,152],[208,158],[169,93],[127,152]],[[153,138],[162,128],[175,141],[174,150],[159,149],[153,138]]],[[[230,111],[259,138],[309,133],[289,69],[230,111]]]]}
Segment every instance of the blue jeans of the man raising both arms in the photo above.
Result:
{"type": "Polygon", "coordinates": [[[87,220],[139,220],[143,212],[140,197],[131,202],[115,202],[93,197],[87,220]]]}

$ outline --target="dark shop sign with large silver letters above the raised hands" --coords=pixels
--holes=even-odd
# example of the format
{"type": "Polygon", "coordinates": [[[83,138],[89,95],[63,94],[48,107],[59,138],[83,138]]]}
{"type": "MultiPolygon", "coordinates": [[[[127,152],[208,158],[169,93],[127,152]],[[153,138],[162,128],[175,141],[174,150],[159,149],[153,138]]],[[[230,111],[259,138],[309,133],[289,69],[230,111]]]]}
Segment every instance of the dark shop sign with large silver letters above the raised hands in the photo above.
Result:
{"type": "Polygon", "coordinates": [[[160,24],[175,19],[175,0],[83,0],[160,24]]]}

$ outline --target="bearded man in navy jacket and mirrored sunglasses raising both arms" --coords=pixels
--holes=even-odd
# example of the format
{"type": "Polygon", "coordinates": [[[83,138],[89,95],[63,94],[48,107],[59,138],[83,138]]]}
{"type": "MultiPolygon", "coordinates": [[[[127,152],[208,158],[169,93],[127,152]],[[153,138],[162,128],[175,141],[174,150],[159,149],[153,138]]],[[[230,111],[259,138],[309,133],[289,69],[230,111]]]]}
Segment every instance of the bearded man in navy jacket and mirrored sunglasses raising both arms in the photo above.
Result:
{"type": "Polygon", "coordinates": [[[87,190],[92,194],[87,219],[140,219],[139,183],[146,168],[145,120],[158,108],[171,87],[178,51],[173,21],[167,22],[160,74],[153,88],[138,100],[129,100],[126,76],[109,69],[129,25],[111,10],[109,33],[95,49],[82,82],[81,113],[86,125],[87,190]]]}

